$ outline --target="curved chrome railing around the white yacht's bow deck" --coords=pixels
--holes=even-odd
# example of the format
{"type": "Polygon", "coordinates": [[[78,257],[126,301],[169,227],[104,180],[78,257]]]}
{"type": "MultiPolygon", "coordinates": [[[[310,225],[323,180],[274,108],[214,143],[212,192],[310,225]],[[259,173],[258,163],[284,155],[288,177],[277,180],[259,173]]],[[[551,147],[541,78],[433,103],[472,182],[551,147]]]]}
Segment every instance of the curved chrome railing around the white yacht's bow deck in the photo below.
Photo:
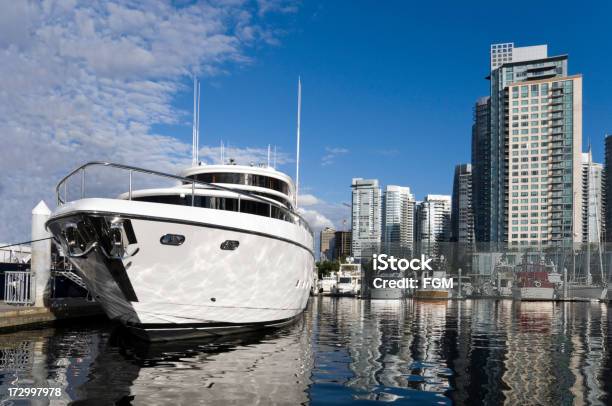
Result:
{"type": "Polygon", "coordinates": [[[169,173],[164,173],[164,172],[158,172],[158,171],[153,171],[150,169],[144,169],[144,168],[138,168],[136,166],[129,166],[129,165],[123,165],[123,164],[116,164],[116,163],[112,163],[112,162],[103,162],[103,161],[92,161],[92,162],[87,162],[84,165],[79,166],[78,168],[76,168],[75,170],[73,170],[72,172],[70,172],[68,175],[64,176],[62,178],[62,180],[60,180],[57,184],[57,186],[55,187],[55,193],[57,195],[57,205],[61,206],[63,204],[65,204],[68,201],[68,181],[70,180],[70,178],[72,178],[75,175],[79,175],[80,174],[80,181],[81,181],[81,193],[80,193],[80,198],[83,199],[85,198],[85,177],[86,177],[86,168],[88,167],[92,167],[92,166],[101,166],[101,167],[107,167],[107,168],[116,168],[116,169],[121,169],[124,171],[128,172],[128,179],[129,179],[129,188],[128,188],[128,200],[132,200],[132,187],[133,187],[133,182],[132,182],[132,178],[134,173],[143,173],[145,175],[153,175],[153,176],[158,176],[161,178],[166,178],[166,179],[172,179],[172,180],[177,180],[182,182],[183,184],[190,184],[191,185],[191,205],[195,206],[195,196],[196,196],[196,185],[202,185],[202,186],[206,186],[209,189],[214,189],[214,190],[224,190],[227,192],[232,192],[232,193],[236,193],[238,195],[238,211],[240,211],[240,197],[241,196],[246,196],[249,199],[252,200],[257,200],[259,202],[263,202],[265,204],[270,205],[270,210],[269,210],[269,216],[268,217],[273,217],[273,212],[272,212],[272,207],[276,207],[281,213],[283,213],[285,216],[283,216],[282,219],[287,220],[289,222],[292,222],[294,224],[299,224],[301,227],[304,227],[306,230],[308,230],[308,232],[313,235],[312,230],[310,229],[310,226],[308,225],[308,222],[306,220],[304,220],[304,218],[302,216],[300,216],[299,214],[295,213],[294,211],[291,211],[289,209],[287,209],[286,207],[284,207],[283,205],[281,205],[280,203],[274,202],[274,201],[270,201],[267,199],[262,198],[261,196],[258,196],[256,194],[253,193],[249,193],[248,191],[245,190],[240,190],[240,189],[235,189],[235,188],[231,188],[231,187],[225,187],[225,186],[220,186],[214,183],[208,183],[208,182],[202,182],[199,180],[195,180],[195,179],[191,179],[191,178],[185,178],[182,176],[177,176],[177,175],[172,175],[169,173]],[[64,195],[62,196],[62,189],[64,191],[64,195]]]}

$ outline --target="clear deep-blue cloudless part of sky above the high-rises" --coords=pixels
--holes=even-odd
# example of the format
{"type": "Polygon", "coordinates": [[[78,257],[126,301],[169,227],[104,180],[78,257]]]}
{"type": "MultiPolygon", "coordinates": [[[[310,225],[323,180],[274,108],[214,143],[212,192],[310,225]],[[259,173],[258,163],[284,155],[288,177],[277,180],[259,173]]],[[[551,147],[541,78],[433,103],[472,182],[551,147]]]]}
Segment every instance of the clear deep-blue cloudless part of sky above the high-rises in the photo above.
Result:
{"type": "MultiPolygon", "coordinates": [[[[584,134],[601,160],[612,132],[609,4],[304,1],[276,19],[285,30],[278,46],[252,50],[253,63],[226,76],[202,78],[202,142],[272,143],[293,153],[301,74],[309,192],[349,201],[351,178],[373,177],[408,185],[417,198],[450,193],[454,165],[470,160],[473,103],[488,93],[489,45],[514,41],[569,54],[571,73],[584,75],[584,134]],[[326,147],[348,152],[322,165],[326,147]]],[[[176,103],[189,111],[191,93],[176,103]]],[[[191,128],[171,135],[188,141],[191,128]]]]}

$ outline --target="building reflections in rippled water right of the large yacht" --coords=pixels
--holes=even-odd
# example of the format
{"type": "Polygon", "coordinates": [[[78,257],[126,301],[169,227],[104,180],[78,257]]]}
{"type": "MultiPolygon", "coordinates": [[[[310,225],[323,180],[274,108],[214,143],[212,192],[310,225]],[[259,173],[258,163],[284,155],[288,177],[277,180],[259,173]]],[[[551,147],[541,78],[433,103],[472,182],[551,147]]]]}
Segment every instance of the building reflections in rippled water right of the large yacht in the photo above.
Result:
{"type": "MultiPolygon", "coordinates": [[[[326,334],[314,339],[324,344],[316,356],[332,360],[324,367],[335,359],[335,379],[325,383],[327,392],[337,386],[339,400],[343,388],[353,399],[400,403],[417,399],[415,390],[470,405],[611,399],[606,304],[321,298],[319,305],[326,334]]],[[[316,393],[323,383],[316,371],[313,382],[316,393]]]]}

